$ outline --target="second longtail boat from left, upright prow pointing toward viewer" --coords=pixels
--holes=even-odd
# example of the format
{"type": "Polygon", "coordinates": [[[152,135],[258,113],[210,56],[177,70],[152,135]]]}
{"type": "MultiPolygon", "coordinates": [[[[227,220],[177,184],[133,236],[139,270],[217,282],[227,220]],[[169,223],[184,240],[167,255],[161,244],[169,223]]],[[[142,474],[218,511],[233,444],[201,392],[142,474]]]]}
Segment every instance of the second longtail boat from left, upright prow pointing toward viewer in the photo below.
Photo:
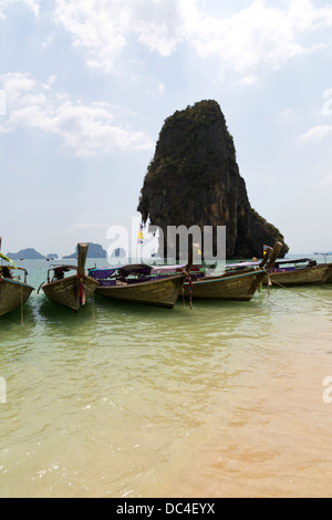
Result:
{"type": "Polygon", "coordinates": [[[74,311],[84,305],[98,285],[97,280],[85,274],[87,248],[87,243],[77,245],[77,266],[52,266],[48,270],[48,281],[38,292],[42,289],[49,300],[74,311]],[[75,274],[65,277],[69,271],[75,271],[75,274]]]}

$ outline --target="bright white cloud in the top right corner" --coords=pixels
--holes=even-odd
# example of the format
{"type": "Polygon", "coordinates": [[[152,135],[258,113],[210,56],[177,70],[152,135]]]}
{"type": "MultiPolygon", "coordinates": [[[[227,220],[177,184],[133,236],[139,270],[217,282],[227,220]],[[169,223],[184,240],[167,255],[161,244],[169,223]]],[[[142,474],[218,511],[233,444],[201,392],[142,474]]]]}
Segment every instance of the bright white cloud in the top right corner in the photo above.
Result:
{"type": "Polygon", "coordinates": [[[193,43],[199,55],[219,54],[221,66],[240,73],[259,65],[277,69],[315,50],[301,44],[301,35],[331,23],[332,8],[313,8],[309,0],[291,0],[288,9],[256,0],[225,19],[205,17],[193,43]]]}

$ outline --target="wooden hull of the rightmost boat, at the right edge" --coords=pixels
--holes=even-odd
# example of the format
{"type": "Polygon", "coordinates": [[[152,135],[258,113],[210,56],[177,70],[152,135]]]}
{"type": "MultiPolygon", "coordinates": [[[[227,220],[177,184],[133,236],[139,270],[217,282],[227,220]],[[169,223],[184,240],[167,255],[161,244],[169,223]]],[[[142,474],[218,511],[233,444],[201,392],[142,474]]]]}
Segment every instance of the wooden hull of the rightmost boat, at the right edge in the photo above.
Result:
{"type": "Polygon", "coordinates": [[[276,287],[280,285],[320,285],[325,282],[330,268],[326,264],[297,269],[293,271],[271,272],[264,279],[263,283],[268,284],[269,280],[276,287]]]}

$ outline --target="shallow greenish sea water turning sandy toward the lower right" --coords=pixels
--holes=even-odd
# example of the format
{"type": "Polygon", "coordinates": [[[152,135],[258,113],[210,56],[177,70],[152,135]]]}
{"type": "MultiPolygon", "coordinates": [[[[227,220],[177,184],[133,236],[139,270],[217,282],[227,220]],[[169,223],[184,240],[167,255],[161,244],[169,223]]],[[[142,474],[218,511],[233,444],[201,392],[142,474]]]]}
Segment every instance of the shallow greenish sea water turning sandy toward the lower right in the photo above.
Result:
{"type": "MultiPolygon", "coordinates": [[[[38,289],[49,262],[21,266],[38,289]]],[[[0,318],[0,497],[331,497],[331,309],[332,284],[77,314],[34,291],[0,318]]]]}

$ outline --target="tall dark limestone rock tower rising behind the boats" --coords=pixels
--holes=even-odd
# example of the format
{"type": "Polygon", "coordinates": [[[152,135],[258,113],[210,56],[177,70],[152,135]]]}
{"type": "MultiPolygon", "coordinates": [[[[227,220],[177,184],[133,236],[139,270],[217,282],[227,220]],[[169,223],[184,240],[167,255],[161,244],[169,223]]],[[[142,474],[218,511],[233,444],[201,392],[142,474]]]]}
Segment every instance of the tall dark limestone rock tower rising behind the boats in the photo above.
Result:
{"type": "MultiPolygon", "coordinates": [[[[165,121],[144,179],[143,221],[167,226],[226,226],[227,258],[261,257],[280,231],[250,206],[234,141],[215,101],[201,101],[165,121]]],[[[166,250],[166,249],[165,249],[166,250]]],[[[284,246],[282,253],[287,252],[284,246]]]]}

